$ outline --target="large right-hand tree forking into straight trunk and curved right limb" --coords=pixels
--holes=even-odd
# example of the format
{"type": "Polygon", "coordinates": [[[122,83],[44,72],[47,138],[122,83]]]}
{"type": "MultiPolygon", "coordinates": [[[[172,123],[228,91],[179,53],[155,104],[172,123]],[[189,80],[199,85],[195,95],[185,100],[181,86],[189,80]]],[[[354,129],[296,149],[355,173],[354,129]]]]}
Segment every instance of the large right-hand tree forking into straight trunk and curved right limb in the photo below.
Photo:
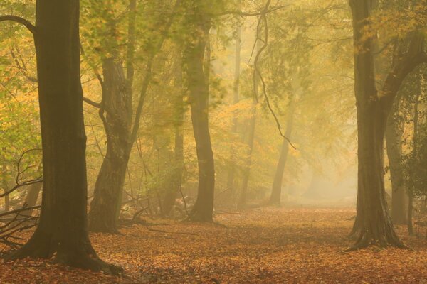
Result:
{"type": "Polygon", "coordinates": [[[405,247],[394,231],[384,189],[384,133],[386,121],[406,75],[427,60],[423,37],[411,35],[399,48],[383,89],[376,89],[374,68],[375,33],[369,33],[372,1],[350,0],[354,32],[354,91],[357,107],[358,187],[357,217],[353,232],[356,243],[349,249],[372,244],[405,247]]]}

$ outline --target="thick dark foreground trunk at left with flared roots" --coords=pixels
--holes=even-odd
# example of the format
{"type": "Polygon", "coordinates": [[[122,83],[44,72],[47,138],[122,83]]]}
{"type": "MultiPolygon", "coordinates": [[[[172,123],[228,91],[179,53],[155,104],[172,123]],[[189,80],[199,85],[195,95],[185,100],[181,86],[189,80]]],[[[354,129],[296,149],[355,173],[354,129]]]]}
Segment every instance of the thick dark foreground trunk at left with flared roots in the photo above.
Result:
{"type": "Polygon", "coordinates": [[[36,56],[43,146],[40,222],[11,258],[51,258],[95,271],[112,266],[97,258],[87,228],[87,181],[80,83],[79,1],[38,0],[36,56]]]}

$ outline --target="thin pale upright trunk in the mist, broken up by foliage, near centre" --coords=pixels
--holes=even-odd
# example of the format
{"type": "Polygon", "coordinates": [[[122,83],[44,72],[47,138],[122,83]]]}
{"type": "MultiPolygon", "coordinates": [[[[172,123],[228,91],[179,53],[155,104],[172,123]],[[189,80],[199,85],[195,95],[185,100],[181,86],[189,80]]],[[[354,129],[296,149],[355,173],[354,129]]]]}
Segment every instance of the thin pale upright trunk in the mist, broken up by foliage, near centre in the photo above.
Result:
{"type": "MultiPolygon", "coordinates": [[[[241,26],[236,30],[236,61],[234,64],[234,84],[233,84],[233,104],[239,102],[239,87],[240,87],[240,73],[241,73],[241,26]]],[[[237,133],[237,116],[233,114],[233,123],[231,132],[237,133]]],[[[227,190],[231,190],[231,196],[235,195],[234,178],[236,176],[236,165],[233,163],[227,175],[227,190]]]]}

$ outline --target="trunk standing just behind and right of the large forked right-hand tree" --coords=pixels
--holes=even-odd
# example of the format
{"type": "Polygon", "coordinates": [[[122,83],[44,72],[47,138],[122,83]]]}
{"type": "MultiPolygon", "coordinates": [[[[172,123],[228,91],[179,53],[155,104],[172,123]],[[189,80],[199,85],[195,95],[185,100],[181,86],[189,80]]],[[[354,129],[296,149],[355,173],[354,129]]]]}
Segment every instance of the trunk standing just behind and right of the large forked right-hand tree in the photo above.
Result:
{"type": "MultiPolygon", "coordinates": [[[[398,111],[398,105],[394,107],[398,111]]],[[[386,145],[391,177],[391,220],[394,224],[406,224],[406,191],[401,167],[401,143],[403,130],[396,121],[396,113],[387,120],[386,145]]]]}

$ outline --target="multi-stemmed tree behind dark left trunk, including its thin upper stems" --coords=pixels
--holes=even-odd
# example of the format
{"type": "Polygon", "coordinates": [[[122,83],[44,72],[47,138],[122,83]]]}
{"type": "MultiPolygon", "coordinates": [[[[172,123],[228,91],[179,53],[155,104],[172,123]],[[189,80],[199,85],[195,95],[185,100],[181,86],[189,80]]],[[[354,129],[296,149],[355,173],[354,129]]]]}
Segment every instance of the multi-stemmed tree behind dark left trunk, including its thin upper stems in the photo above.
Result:
{"type": "MultiPolygon", "coordinates": [[[[149,51],[147,65],[145,67],[144,79],[142,81],[141,92],[138,97],[135,118],[132,125],[132,85],[134,80],[134,52],[135,52],[135,15],[136,1],[130,0],[130,21],[128,28],[127,44],[127,75],[123,70],[122,61],[117,54],[117,50],[112,50],[112,54],[102,62],[104,80],[102,84],[102,101],[100,104],[93,104],[100,108],[100,117],[107,134],[107,153],[102,162],[100,173],[95,183],[94,198],[90,204],[89,225],[93,231],[107,233],[117,233],[117,221],[122,205],[123,183],[127,171],[127,164],[130,152],[137,139],[139,121],[144,106],[144,99],[147,95],[149,84],[152,80],[152,67],[154,58],[167,36],[169,28],[172,26],[174,13],[179,7],[180,1],[174,5],[172,15],[164,23],[163,33],[154,38],[152,50],[149,51]],[[107,114],[105,116],[105,113],[107,114]]],[[[115,35],[115,20],[109,22],[110,32],[115,35]]],[[[107,44],[107,43],[106,43],[107,44]]]]}

